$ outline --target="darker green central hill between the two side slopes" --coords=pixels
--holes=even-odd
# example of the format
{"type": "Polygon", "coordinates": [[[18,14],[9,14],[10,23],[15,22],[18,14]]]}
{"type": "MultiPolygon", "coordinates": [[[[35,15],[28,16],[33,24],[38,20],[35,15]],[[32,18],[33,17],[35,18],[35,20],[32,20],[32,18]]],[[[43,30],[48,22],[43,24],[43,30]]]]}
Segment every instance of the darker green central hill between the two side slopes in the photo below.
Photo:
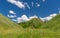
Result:
{"type": "Polygon", "coordinates": [[[38,18],[33,18],[30,21],[18,23],[23,28],[40,28],[44,22],[38,18]]]}

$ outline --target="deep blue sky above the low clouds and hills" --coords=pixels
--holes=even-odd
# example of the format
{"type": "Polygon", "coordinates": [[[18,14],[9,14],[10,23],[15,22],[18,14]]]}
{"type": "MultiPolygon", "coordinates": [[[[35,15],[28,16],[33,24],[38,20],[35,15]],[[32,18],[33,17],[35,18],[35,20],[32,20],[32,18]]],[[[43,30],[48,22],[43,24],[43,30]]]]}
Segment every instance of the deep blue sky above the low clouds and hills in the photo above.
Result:
{"type": "Polygon", "coordinates": [[[60,0],[0,0],[0,13],[7,16],[12,10],[17,17],[22,15],[46,17],[59,13],[60,0]]]}

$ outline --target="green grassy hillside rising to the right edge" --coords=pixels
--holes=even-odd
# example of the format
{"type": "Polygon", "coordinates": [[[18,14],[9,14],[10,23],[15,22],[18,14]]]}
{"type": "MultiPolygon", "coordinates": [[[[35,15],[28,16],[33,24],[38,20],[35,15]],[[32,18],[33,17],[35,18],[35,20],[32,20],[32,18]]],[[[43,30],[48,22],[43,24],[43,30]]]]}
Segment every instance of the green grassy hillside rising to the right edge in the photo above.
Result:
{"type": "Polygon", "coordinates": [[[51,30],[60,30],[60,14],[52,18],[50,21],[42,25],[41,28],[47,28],[51,30]]]}

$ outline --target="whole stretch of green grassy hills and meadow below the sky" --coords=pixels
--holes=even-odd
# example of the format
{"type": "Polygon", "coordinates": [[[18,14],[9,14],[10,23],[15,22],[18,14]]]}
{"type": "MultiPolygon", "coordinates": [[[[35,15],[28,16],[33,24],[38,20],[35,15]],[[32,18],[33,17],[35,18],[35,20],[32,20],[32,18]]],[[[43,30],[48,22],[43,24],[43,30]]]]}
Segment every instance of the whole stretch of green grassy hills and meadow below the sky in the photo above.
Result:
{"type": "Polygon", "coordinates": [[[34,18],[17,24],[0,14],[0,38],[60,38],[60,15],[47,22],[34,18]]]}

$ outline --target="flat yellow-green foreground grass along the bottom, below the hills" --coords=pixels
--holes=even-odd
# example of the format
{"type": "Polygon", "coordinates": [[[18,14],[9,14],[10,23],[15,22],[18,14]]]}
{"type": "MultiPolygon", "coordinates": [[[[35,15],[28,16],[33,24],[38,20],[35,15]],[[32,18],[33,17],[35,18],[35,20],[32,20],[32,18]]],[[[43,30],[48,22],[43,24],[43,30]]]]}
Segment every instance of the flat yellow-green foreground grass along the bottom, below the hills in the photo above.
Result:
{"type": "Polygon", "coordinates": [[[0,38],[60,38],[60,32],[46,29],[13,29],[0,31],[0,38]]]}

